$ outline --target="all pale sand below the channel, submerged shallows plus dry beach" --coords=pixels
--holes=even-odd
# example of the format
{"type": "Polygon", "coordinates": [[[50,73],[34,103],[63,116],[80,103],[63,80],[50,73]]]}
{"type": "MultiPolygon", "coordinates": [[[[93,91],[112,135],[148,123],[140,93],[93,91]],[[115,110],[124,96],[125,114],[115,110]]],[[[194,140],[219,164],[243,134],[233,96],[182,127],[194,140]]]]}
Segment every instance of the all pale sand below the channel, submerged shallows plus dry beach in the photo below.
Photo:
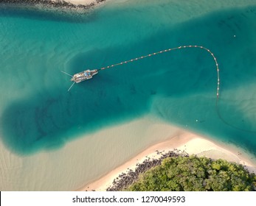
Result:
{"type": "Polygon", "coordinates": [[[246,156],[238,155],[238,151],[242,150],[235,146],[230,150],[227,149],[229,147],[218,146],[153,116],[145,116],[82,135],[58,150],[42,151],[30,156],[18,156],[0,143],[0,190],[86,190],[87,186],[84,185],[108,174],[89,188],[105,190],[120,172],[134,167],[146,155],[155,155],[156,149],[173,148],[185,149],[189,154],[244,162],[252,166],[252,170],[256,165],[246,160],[246,156]]]}

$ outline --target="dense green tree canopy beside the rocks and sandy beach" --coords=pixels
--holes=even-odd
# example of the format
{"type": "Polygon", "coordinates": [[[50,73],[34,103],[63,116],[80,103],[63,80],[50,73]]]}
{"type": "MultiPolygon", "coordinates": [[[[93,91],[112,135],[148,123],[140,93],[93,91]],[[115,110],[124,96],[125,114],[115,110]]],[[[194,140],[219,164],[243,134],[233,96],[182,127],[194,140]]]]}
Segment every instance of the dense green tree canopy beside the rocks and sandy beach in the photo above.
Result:
{"type": "MultiPolygon", "coordinates": [[[[125,180],[125,178],[122,178],[125,180]]],[[[121,180],[122,182],[122,180],[121,180]]],[[[196,155],[166,157],[122,191],[255,191],[256,176],[242,165],[196,155]]]]}

